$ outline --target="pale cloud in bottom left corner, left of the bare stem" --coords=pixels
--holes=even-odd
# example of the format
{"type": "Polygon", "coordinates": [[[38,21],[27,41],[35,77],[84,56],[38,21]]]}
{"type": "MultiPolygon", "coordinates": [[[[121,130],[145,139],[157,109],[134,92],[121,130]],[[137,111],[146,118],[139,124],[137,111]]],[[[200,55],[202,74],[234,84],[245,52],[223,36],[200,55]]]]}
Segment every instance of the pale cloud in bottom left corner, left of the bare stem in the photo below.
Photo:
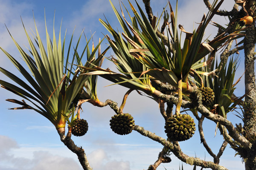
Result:
{"type": "MultiPolygon", "coordinates": [[[[31,148],[30,148],[31,149],[31,148]]],[[[38,148],[30,150],[32,156],[27,154],[29,148],[20,147],[17,142],[8,136],[0,135],[0,169],[1,170],[70,170],[81,169],[81,166],[70,157],[56,155],[42,151],[38,148]],[[16,152],[14,151],[16,150],[16,152]],[[23,150],[16,154],[18,150],[23,150]]],[[[53,149],[55,150],[55,148],[53,149]]],[[[72,154],[72,153],[71,153],[72,154]]]]}

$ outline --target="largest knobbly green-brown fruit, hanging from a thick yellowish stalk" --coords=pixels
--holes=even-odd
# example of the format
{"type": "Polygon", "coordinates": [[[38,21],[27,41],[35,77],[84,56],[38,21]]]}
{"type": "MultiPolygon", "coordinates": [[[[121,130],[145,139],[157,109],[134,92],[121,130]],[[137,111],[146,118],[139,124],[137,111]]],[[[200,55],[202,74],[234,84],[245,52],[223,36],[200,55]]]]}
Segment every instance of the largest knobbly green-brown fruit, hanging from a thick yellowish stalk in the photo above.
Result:
{"type": "Polygon", "coordinates": [[[185,141],[195,133],[194,119],[187,114],[174,115],[167,119],[165,125],[167,137],[175,141],[185,141]]]}

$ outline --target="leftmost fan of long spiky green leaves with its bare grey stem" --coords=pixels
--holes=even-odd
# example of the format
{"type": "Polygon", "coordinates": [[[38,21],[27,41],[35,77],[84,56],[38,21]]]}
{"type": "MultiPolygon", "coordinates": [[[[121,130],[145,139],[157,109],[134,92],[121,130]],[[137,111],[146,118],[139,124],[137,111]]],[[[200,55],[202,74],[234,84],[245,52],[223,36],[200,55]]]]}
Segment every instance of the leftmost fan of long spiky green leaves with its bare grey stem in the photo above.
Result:
{"type": "Polygon", "coordinates": [[[90,169],[84,150],[82,147],[77,147],[70,137],[71,133],[76,136],[81,136],[81,133],[86,133],[87,131],[87,122],[80,119],[79,113],[81,108],[79,107],[79,103],[81,103],[81,99],[83,99],[83,101],[88,99],[97,101],[96,77],[84,75],[87,71],[79,69],[75,64],[81,65],[81,59],[86,56],[88,62],[86,62],[84,66],[89,68],[95,65],[100,66],[104,59],[103,55],[108,48],[102,53],[99,50],[98,57],[96,57],[97,50],[100,49],[101,41],[96,47],[93,46],[90,52],[90,39],[87,41],[87,44],[84,45],[84,50],[79,56],[77,48],[79,47],[79,42],[83,34],[80,35],[75,47],[72,47],[72,35],[67,51],[64,51],[66,34],[64,40],[61,41],[60,29],[58,34],[59,38],[57,40],[55,37],[55,29],[53,28],[53,38],[51,40],[48,34],[46,20],[45,28],[46,48],[38,33],[36,24],[35,32],[31,34],[32,39],[29,36],[29,32],[27,32],[24,27],[30,47],[29,54],[26,53],[11,36],[30,72],[7,51],[1,48],[4,54],[6,54],[13,65],[15,65],[17,70],[22,74],[23,78],[21,79],[10,71],[0,67],[0,71],[17,85],[4,80],[0,80],[0,84],[2,88],[23,98],[22,101],[7,99],[9,102],[22,106],[12,109],[32,109],[47,118],[55,126],[61,137],[61,141],[77,154],[82,167],[84,167],[84,169],[90,169]],[[72,48],[74,50],[73,52],[72,48]],[[71,54],[72,57],[70,57],[71,54]],[[73,69],[74,67],[76,67],[75,70],[73,69]],[[26,101],[29,103],[26,103],[26,101]],[[68,123],[67,136],[65,136],[66,123],[68,123]],[[79,125],[81,129],[77,130],[76,127],[79,125]]]}

